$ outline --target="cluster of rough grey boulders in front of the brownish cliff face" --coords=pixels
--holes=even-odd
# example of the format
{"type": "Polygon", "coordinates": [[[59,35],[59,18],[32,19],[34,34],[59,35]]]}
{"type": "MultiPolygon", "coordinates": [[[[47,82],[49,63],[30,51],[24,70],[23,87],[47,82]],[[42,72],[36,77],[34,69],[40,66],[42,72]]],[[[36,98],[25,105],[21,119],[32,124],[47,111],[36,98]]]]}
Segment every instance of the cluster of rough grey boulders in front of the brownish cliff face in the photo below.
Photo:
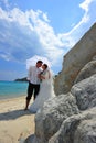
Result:
{"type": "Polygon", "coordinates": [[[32,143],[95,143],[95,110],[96,75],[74,85],[71,92],[45,102],[35,116],[32,143]],[[87,142],[88,138],[92,141],[87,142]]]}

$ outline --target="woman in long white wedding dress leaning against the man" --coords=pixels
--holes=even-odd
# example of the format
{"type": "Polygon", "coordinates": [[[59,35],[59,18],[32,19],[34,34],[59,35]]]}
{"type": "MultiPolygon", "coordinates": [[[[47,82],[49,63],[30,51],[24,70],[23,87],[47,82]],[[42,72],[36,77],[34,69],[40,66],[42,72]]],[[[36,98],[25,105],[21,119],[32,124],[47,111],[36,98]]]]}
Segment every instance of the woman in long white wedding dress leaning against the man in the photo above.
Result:
{"type": "Polygon", "coordinates": [[[42,69],[42,73],[39,75],[39,78],[41,79],[40,92],[34,102],[29,108],[31,112],[36,112],[40,108],[43,107],[47,99],[55,97],[53,90],[53,77],[49,70],[47,65],[43,64],[42,69]]]}

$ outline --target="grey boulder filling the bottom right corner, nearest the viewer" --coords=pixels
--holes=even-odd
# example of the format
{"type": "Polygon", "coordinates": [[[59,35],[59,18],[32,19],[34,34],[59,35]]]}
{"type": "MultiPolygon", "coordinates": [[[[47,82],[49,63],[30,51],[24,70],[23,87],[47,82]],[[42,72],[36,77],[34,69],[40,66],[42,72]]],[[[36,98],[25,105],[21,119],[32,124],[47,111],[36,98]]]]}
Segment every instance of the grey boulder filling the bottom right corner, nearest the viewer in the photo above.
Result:
{"type": "Polygon", "coordinates": [[[64,120],[49,143],[96,143],[96,108],[64,120]]]}

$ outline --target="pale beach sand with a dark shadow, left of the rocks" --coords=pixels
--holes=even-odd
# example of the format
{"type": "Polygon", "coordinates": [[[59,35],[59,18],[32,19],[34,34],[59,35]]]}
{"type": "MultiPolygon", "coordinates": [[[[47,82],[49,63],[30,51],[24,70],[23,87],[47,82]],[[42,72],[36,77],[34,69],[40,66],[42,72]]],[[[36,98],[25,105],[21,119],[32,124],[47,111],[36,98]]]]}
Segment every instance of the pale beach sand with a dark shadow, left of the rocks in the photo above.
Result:
{"type": "Polygon", "coordinates": [[[0,100],[0,143],[23,143],[34,134],[35,114],[24,111],[24,96],[0,100]]]}

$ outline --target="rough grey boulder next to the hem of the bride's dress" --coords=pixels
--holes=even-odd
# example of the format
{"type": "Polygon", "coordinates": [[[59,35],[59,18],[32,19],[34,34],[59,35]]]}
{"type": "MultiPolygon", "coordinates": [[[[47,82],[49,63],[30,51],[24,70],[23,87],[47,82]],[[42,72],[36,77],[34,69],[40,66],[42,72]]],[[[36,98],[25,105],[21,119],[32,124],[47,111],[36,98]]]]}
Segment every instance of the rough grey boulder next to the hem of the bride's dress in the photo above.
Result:
{"type": "Polygon", "coordinates": [[[39,143],[47,143],[49,139],[58,131],[62,122],[78,112],[72,94],[61,95],[45,102],[43,109],[35,116],[35,134],[39,143]]]}

